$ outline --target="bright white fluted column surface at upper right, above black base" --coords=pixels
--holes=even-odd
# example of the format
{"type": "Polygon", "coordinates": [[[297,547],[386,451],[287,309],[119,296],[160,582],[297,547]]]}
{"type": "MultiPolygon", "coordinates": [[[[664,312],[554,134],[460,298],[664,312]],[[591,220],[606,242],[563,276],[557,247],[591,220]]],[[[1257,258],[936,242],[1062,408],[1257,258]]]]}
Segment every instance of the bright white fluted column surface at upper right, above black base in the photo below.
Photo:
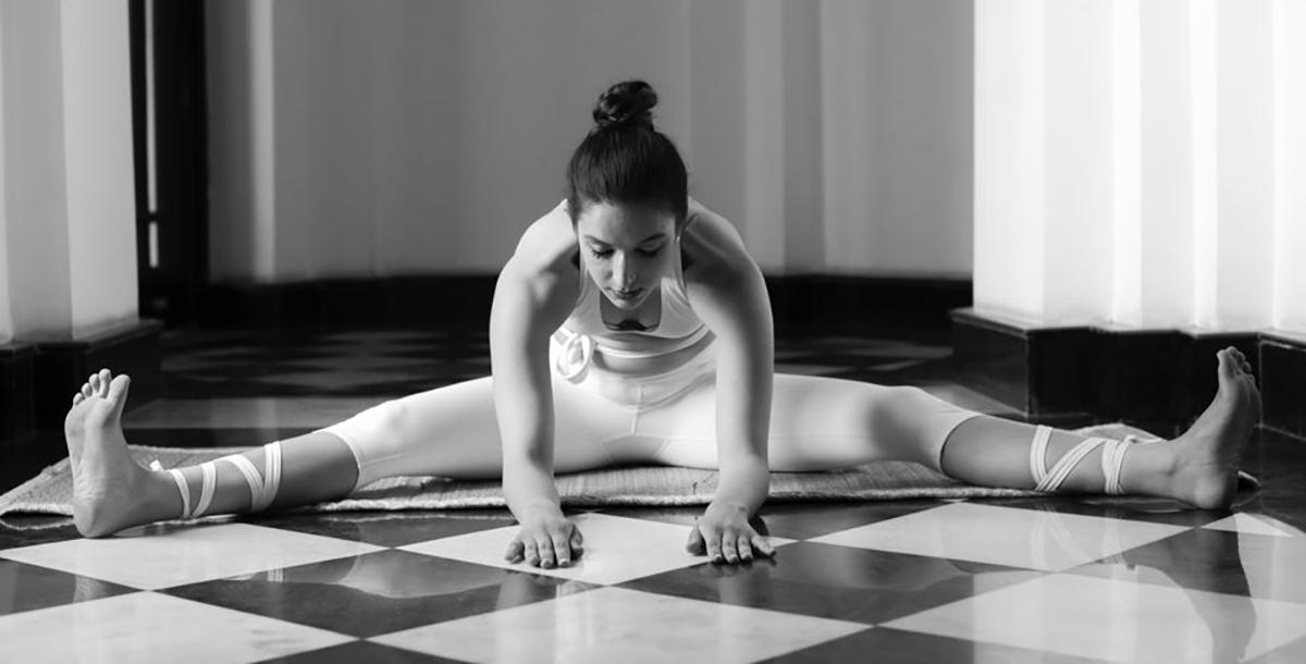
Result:
{"type": "Polygon", "coordinates": [[[1306,332],[1302,34],[1302,0],[977,0],[976,307],[1306,332]]]}

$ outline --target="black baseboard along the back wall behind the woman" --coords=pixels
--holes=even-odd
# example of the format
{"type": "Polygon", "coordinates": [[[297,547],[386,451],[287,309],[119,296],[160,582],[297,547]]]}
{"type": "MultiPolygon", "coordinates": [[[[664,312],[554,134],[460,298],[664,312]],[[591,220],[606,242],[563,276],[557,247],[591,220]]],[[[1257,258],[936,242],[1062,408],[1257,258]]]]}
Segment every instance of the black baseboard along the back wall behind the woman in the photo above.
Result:
{"type": "MultiPolygon", "coordinates": [[[[201,294],[206,328],[441,327],[485,332],[494,274],[214,284],[201,294]]],[[[949,278],[768,276],[777,333],[936,329],[970,305],[970,281],[949,278]]]]}

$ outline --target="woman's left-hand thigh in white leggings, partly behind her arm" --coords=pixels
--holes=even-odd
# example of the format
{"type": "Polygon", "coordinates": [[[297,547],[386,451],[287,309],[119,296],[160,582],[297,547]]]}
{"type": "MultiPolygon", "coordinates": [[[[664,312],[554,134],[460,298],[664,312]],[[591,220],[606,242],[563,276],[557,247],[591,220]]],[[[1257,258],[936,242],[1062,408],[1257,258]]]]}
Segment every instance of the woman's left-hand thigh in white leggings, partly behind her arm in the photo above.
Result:
{"type": "MultiPolygon", "coordinates": [[[[598,444],[628,429],[628,416],[581,386],[554,379],[554,468],[573,472],[609,461],[598,444]]],[[[494,383],[479,378],[370,408],[325,431],[359,461],[359,484],[400,476],[499,477],[503,454],[494,383]]]]}

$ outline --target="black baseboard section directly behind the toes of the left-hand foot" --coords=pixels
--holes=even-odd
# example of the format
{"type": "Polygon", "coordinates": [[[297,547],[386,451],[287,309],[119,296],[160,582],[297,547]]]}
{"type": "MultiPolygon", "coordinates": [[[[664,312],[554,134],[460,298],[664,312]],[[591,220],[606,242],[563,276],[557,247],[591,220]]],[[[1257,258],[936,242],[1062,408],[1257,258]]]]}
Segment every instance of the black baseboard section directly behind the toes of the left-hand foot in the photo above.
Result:
{"type": "Polygon", "coordinates": [[[42,433],[63,431],[73,393],[93,371],[103,367],[132,376],[133,404],[163,396],[162,332],[162,322],[141,320],[76,341],[35,342],[31,379],[34,429],[42,433]]]}

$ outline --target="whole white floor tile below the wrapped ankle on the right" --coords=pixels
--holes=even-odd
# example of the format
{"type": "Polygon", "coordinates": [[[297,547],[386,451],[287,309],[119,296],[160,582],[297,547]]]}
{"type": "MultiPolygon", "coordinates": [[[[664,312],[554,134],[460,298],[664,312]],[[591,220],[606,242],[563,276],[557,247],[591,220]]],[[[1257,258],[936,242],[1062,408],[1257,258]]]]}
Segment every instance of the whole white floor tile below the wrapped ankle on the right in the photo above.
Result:
{"type": "Polygon", "coordinates": [[[811,541],[1060,571],[1185,529],[1123,519],[952,503],[811,541]]]}

